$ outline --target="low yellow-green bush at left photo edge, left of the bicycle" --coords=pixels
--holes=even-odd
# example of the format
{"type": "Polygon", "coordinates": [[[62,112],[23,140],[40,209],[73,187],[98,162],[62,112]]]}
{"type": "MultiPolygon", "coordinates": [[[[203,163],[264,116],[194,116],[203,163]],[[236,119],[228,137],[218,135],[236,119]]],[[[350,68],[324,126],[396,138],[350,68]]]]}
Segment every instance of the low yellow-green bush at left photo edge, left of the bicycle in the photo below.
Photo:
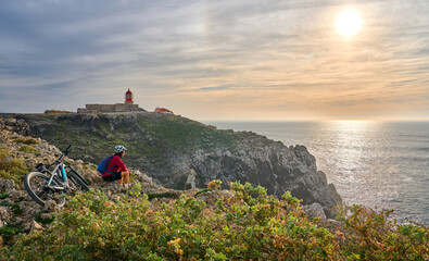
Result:
{"type": "Polygon", "coordinates": [[[24,161],[12,158],[10,151],[0,146],[0,178],[13,179],[15,184],[22,184],[29,169],[24,161]]]}

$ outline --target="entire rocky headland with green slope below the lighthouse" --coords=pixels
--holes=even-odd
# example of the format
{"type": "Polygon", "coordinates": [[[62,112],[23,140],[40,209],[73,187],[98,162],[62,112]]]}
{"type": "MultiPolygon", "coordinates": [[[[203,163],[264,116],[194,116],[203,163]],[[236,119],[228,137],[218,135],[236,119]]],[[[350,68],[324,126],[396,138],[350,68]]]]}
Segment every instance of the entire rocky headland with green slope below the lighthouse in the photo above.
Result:
{"type": "Polygon", "coordinates": [[[175,189],[205,187],[212,179],[262,185],[268,194],[290,190],[304,204],[318,202],[327,216],[341,202],[304,146],[287,147],[249,132],[220,130],[175,115],[3,114],[24,120],[33,136],[59,148],[73,144],[79,159],[98,163],[115,145],[128,148],[125,162],[175,189]]]}

